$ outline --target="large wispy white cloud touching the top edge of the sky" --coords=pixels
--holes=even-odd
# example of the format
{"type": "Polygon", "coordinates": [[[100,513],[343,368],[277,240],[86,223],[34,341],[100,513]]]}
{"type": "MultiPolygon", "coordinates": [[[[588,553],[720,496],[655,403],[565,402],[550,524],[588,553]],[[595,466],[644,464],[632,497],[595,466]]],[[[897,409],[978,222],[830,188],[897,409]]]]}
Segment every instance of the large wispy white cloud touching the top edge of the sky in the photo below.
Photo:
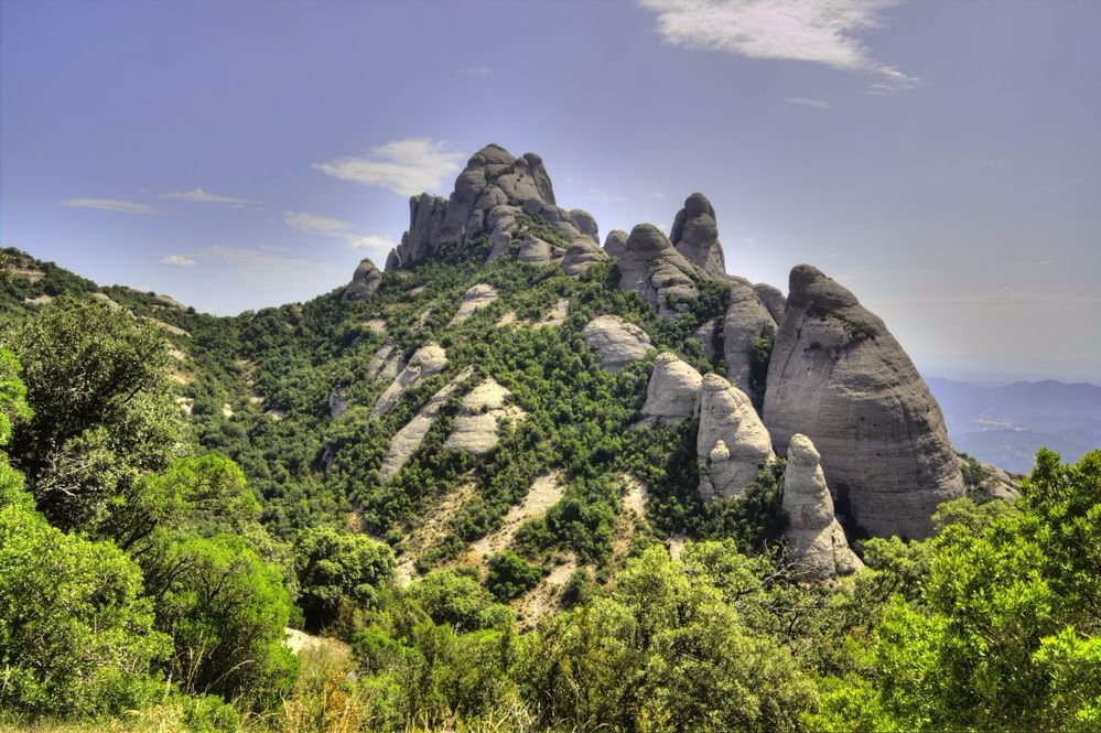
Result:
{"type": "Polygon", "coordinates": [[[913,87],[918,79],[875,61],[860,36],[881,24],[883,10],[900,1],[638,0],[638,3],[657,13],[658,33],[671,45],[873,73],[879,77],[873,93],[884,94],[913,87]]]}

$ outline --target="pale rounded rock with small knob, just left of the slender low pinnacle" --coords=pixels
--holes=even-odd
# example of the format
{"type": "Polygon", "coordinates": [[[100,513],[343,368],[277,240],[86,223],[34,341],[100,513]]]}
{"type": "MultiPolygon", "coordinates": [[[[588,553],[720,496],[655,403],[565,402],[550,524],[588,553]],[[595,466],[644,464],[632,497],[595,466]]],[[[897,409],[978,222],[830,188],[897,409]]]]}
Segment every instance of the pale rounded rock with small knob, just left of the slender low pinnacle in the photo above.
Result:
{"type": "Polygon", "coordinates": [[[717,374],[700,390],[697,461],[704,499],[741,498],[757,473],[776,457],[768,431],[749,398],[717,374]]]}

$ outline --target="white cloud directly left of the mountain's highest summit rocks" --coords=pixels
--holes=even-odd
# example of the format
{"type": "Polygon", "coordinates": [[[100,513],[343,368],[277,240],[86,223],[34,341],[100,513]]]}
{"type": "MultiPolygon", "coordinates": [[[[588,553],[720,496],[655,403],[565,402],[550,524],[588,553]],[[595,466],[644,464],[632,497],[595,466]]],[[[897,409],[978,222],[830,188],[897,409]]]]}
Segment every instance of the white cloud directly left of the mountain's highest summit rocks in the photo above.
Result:
{"type": "Polygon", "coordinates": [[[438,191],[444,180],[458,170],[463,153],[450,143],[429,138],[395,140],[371,148],[367,155],[341,158],[313,166],[342,181],[382,186],[412,196],[422,191],[438,191]]]}

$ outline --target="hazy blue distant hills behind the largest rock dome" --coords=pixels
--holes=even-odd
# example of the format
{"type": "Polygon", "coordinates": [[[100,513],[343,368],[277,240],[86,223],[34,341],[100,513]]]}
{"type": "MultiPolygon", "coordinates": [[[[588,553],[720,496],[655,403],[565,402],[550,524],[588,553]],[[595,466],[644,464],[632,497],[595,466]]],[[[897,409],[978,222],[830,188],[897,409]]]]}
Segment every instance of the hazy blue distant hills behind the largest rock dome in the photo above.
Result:
{"type": "Polygon", "coordinates": [[[1077,461],[1101,448],[1101,387],[1086,382],[1015,381],[992,387],[931,377],[959,450],[1016,473],[1032,468],[1037,449],[1077,461]]]}

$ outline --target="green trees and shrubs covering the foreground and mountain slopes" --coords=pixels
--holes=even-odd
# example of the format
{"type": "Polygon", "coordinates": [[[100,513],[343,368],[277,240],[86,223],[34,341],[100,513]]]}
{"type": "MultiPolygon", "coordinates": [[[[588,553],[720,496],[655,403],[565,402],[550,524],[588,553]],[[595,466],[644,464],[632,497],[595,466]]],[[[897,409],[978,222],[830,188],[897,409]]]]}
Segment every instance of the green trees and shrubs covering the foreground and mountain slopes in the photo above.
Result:
{"type": "Polygon", "coordinates": [[[651,363],[608,374],[581,338],[615,313],[722,369],[692,336],[722,289],[659,321],[611,266],[572,279],[484,266],[485,251],[387,273],[368,302],[235,319],[6,252],[0,729],[1101,725],[1101,452],[1069,466],[1041,452],[1015,502],[984,500],[969,464],[972,491],[941,506],[935,537],[866,540],[865,571],[803,584],[779,542],[782,462],[745,499],[704,505],[697,425],[628,428],[651,363]],[[475,282],[500,299],[449,325],[475,282]],[[54,299],[25,302],[41,294],[54,299]],[[562,298],[564,323],[535,325],[562,298]],[[506,311],[528,323],[498,327],[506,311]],[[371,357],[429,341],[444,371],[370,418],[386,387],[364,376],[371,357]],[[393,434],[467,368],[381,481],[393,434]],[[522,418],[482,459],[445,450],[458,397],[488,376],[522,418]],[[334,392],[349,406],[337,417],[334,392]],[[561,498],[475,561],[472,542],[548,472],[561,498]],[[647,487],[644,517],[628,477],[647,487]],[[293,654],[287,626],[330,639],[293,654]]]}

